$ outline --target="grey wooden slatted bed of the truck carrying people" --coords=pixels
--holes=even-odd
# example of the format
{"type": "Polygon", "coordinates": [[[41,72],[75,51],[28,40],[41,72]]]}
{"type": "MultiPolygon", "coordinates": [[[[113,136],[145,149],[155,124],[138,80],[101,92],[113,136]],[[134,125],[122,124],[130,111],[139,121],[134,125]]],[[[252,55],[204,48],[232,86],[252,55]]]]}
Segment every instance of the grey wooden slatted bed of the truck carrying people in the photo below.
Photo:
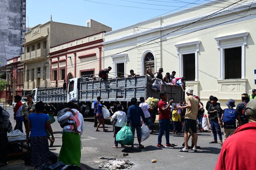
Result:
{"type": "MultiPolygon", "coordinates": [[[[166,91],[168,98],[173,97],[175,102],[184,101],[185,93],[180,86],[163,85],[162,91],[166,91]]],[[[160,99],[159,92],[150,88],[146,76],[135,78],[119,78],[113,80],[96,80],[80,82],[80,102],[93,102],[100,96],[101,101],[130,102],[131,98],[154,97],[160,99]]]]}

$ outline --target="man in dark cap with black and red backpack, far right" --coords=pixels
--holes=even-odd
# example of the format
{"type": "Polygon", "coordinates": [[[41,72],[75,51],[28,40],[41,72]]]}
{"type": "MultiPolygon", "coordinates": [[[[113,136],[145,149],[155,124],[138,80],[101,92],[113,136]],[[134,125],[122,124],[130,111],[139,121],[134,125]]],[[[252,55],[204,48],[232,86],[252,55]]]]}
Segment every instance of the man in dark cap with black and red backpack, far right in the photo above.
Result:
{"type": "Polygon", "coordinates": [[[243,93],[242,94],[242,102],[236,106],[236,111],[239,113],[242,125],[248,123],[248,119],[247,119],[246,115],[244,114],[244,109],[248,102],[249,102],[248,94],[243,93]]]}

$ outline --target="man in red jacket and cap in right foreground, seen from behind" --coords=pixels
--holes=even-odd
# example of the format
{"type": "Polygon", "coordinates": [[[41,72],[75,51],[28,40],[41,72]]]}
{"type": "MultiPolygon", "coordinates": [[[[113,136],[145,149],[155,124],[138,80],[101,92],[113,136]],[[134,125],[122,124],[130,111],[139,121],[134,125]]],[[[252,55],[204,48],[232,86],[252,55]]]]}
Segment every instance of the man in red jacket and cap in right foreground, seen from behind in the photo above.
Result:
{"type": "Polygon", "coordinates": [[[226,139],[215,170],[255,169],[256,99],[248,102],[245,115],[249,123],[237,128],[234,134],[226,139]]]}

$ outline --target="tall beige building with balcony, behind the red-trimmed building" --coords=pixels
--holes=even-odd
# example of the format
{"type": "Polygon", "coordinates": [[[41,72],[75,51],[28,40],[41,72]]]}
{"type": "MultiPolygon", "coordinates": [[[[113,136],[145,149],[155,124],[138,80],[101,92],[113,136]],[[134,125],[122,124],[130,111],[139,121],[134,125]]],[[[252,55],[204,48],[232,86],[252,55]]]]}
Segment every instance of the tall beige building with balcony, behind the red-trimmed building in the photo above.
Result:
{"type": "MultiPolygon", "coordinates": [[[[111,28],[94,20],[88,20],[87,26],[71,25],[49,21],[32,27],[25,34],[25,54],[21,55],[24,63],[24,91],[31,92],[38,86],[48,87],[51,70],[49,52],[51,47],[74,39],[92,35],[111,28]]],[[[71,44],[73,45],[73,44],[71,44]]]]}

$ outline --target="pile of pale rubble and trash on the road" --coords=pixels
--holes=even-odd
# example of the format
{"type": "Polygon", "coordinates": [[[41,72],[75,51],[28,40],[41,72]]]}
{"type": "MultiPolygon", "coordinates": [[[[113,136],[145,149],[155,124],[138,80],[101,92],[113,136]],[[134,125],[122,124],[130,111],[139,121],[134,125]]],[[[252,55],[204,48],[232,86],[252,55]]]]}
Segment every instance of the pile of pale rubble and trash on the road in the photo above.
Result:
{"type": "Polygon", "coordinates": [[[113,169],[130,169],[134,165],[131,161],[129,160],[109,160],[107,162],[104,162],[100,164],[99,168],[107,168],[109,170],[113,169]]]}

